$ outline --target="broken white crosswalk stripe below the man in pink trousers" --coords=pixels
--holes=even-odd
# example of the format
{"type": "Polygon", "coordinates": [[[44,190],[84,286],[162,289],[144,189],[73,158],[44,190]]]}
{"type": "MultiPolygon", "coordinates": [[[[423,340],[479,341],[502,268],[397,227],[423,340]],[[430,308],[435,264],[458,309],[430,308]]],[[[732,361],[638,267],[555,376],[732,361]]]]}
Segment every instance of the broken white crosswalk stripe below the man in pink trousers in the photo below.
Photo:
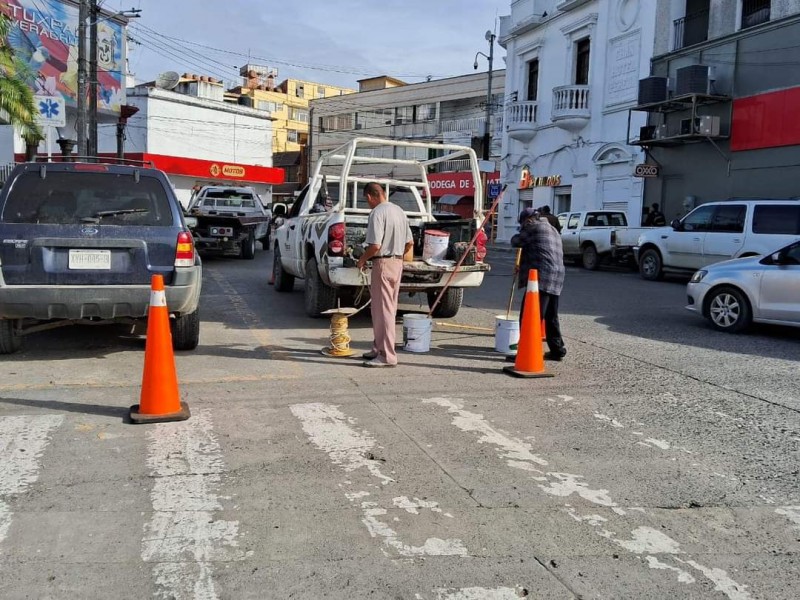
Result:
{"type": "MultiPolygon", "coordinates": [[[[375,438],[368,431],[356,429],[354,419],[347,418],[338,406],[312,402],[308,404],[295,404],[290,407],[292,414],[297,417],[308,435],[311,443],[325,452],[331,462],[341,467],[345,473],[351,474],[366,471],[371,478],[377,479],[380,485],[372,484],[378,492],[386,486],[395,483],[395,480],[383,472],[383,464],[374,458],[373,451],[378,446],[375,438]]],[[[352,485],[349,479],[346,485],[352,485]]],[[[380,517],[388,514],[387,508],[371,499],[368,491],[360,490],[347,492],[345,497],[353,503],[358,503],[363,518],[361,522],[367,528],[370,536],[383,541],[383,552],[386,556],[398,555],[402,557],[417,556],[467,556],[467,548],[463,542],[454,538],[430,537],[422,546],[413,546],[403,542],[398,533],[380,517]]],[[[398,496],[392,499],[393,509],[402,509],[411,515],[419,515],[420,510],[441,513],[439,504],[431,500],[409,499],[408,496],[398,496]]],[[[452,518],[452,515],[445,513],[452,518]]],[[[398,517],[394,521],[399,521],[398,517]]]]}

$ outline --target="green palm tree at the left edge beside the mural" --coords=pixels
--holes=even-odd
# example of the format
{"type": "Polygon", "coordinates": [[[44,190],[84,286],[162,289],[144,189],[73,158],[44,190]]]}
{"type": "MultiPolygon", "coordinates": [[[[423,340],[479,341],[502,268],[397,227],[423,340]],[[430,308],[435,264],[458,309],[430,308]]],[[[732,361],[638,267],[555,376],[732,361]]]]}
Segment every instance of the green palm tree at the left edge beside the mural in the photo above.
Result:
{"type": "Polygon", "coordinates": [[[42,139],[42,131],[36,124],[36,103],[26,83],[27,67],[8,44],[10,30],[11,19],[0,12],[0,115],[19,127],[26,142],[35,142],[42,139]]]}

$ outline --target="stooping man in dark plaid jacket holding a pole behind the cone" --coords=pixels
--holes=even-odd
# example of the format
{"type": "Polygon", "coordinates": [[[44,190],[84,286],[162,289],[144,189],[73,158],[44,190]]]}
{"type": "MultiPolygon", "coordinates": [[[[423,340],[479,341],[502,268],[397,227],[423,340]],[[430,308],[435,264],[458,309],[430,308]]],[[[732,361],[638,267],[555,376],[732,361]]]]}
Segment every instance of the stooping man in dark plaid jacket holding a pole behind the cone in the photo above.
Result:
{"type": "MultiPolygon", "coordinates": [[[[564,287],[564,251],[561,247],[561,235],[538,211],[526,208],[519,216],[520,232],[511,238],[511,245],[522,248],[517,287],[525,290],[528,285],[528,271],[536,269],[539,275],[539,309],[540,318],[544,320],[545,337],[549,352],[545,352],[547,360],[561,360],[567,354],[564,340],[561,337],[561,325],[558,322],[558,298],[564,287]]],[[[523,296],[520,307],[520,322],[525,309],[523,296]]]]}

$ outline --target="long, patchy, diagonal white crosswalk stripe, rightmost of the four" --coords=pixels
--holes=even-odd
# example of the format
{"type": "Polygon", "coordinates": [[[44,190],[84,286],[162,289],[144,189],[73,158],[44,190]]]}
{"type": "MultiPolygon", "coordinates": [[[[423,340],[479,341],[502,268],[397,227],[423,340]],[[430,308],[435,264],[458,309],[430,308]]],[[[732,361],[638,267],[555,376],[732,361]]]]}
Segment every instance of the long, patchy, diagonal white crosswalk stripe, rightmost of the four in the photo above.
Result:
{"type": "MultiPolygon", "coordinates": [[[[435,404],[447,409],[447,412],[453,415],[452,424],[458,429],[470,433],[479,432],[481,437],[478,439],[478,443],[487,443],[487,441],[491,440],[488,443],[493,443],[502,450],[522,447],[526,452],[533,455],[533,448],[531,444],[518,440],[504,431],[495,429],[483,418],[483,415],[464,410],[462,404],[463,401],[461,399],[429,398],[423,399],[422,402],[424,404],[435,404]]],[[[548,461],[545,461],[544,459],[540,458],[540,460],[544,461],[545,465],[549,464],[548,461]]],[[[512,468],[522,469],[528,472],[534,471],[530,463],[523,463],[523,465],[525,465],[523,466],[514,464],[513,461],[506,461],[506,464],[512,468]]],[[[557,473],[553,471],[543,472],[539,469],[536,469],[535,472],[541,473],[541,475],[533,477],[535,481],[539,482],[544,480],[549,483],[549,485],[542,485],[541,483],[538,484],[539,489],[545,493],[562,497],[569,497],[572,494],[575,494],[589,502],[592,502],[593,504],[611,508],[611,510],[617,515],[622,516],[626,514],[626,511],[619,508],[617,503],[614,502],[609,495],[608,490],[591,489],[589,484],[584,481],[584,477],[582,475],[557,473]]],[[[617,535],[615,531],[606,529],[606,526],[608,526],[610,523],[610,519],[596,514],[581,516],[577,514],[577,511],[575,511],[569,504],[565,505],[565,508],[567,513],[573,519],[593,527],[595,532],[601,537],[610,540],[611,542],[633,554],[647,554],[648,556],[645,560],[651,569],[666,569],[675,571],[678,574],[678,581],[680,583],[685,583],[688,585],[694,582],[693,577],[690,575],[687,577],[688,573],[685,570],[680,569],[679,567],[670,568],[673,567],[673,565],[660,562],[658,557],[652,556],[653,554],[659,554],[661,555],[660,558],[663,560],[670,558],[684,565],[689,565],[693,569],[699,571],[708,580],[715,584],[716,590],[722,592],[731,600],[750,600],[751,598],[750,594],[746,591],[747,586],[735,582],[724,570],[709,568],[697,563],[694,560],[682,560],[678,558],[677,555],[683,555],[685,552],[680,549],[680,545],[677,541],[660,531],[650,527],[637,527],[630,533],[631,539],[622,539],[622,537],[617,535]]],[[[646,511],[643,510],[639,512],[646,514],[646,511]]],[[[612,518],[614,517],[612,516],[612,518]]],[[[618,523],[614,526],[614,529],[622,529],[625,527],[625,525],[625,523],[618,523]]]]}

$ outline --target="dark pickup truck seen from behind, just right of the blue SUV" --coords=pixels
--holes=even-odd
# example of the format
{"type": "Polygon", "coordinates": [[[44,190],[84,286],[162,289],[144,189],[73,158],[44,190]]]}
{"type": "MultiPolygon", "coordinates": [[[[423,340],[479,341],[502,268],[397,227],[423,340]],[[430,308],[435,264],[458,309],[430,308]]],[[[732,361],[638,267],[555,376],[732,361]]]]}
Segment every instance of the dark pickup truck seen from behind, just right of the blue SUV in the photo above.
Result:
{"type": "Polygon", "coordinates": [[[207,185],[187,210],[197,220],[192,234],[199,252],[253,259],[256,240],[269,248],[271,215],[253,188],[207,185]]]}

